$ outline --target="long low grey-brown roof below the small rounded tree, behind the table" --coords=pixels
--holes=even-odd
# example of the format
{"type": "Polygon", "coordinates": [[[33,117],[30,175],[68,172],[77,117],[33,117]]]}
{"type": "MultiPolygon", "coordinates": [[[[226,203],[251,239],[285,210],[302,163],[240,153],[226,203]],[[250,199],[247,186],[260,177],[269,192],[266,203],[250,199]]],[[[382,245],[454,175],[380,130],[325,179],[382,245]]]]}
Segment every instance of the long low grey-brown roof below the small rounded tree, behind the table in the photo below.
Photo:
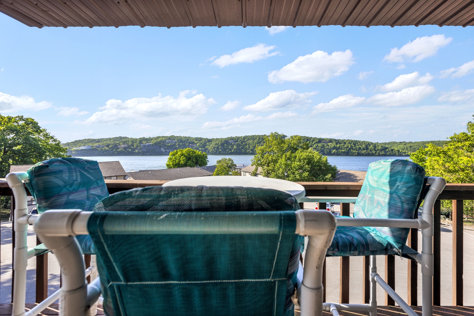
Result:
{"type": "Polygon", "coordinates": [[[133,180],[176,180],[182,178],[211,176],[212,172],[200,168],[172,168],[128,172],[133,180]]]}

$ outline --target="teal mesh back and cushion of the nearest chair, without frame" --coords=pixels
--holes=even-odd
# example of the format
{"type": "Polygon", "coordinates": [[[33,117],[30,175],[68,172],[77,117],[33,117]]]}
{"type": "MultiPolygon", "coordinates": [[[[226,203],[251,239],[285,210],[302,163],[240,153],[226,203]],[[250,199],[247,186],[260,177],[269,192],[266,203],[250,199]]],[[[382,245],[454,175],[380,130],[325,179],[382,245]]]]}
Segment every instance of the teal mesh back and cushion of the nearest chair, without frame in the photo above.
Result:
{"type": "Polygon", "coordinates": [[[88,221],[105,313],[294,315],[297,209],[291,195],[268,189],[148,187],[110,195],[88,221]]]}

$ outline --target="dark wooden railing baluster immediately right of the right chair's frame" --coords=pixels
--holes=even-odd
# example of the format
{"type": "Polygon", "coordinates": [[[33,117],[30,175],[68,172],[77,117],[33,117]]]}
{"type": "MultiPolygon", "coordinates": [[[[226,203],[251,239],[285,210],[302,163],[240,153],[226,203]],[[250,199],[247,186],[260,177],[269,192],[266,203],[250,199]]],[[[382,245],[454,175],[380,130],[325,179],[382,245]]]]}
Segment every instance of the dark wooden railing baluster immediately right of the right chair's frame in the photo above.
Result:
{"type": "Polygon", "coordinates": [[[433,305],[441,306],[441,200],[433,206],[433,305]]]}

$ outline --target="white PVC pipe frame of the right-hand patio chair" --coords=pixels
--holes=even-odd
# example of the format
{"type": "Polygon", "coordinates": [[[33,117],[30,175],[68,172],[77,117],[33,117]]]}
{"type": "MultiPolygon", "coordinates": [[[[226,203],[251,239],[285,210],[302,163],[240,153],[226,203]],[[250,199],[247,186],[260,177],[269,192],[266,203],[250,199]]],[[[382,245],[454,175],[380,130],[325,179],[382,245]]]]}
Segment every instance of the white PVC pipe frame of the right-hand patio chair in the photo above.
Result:
{"type": "MultiPolygon", "coordinates": [[[[433,315],[433,206],[438,195],[444,190],[446,181],[443,178],[429,177],[429,190],[423,203],[421,219],[377,219],[377,218],[337,218],[337,226],[372,226],[372,227],[402,227],[421,229],[422,250],[421,254],[410,255],[412,259],[421,264],[422,274],[422,316],[433,315]]],[[[341,202],[354,203],[354,198],[346,197],[304,197],[300,202],[341,202]]],[[[377,273],[376,256],[370,256],[370,299],[369,304],[339,304],[324,303],[323,308],[331,312],[333,316],[339,315],[339,311],[369,312],[370,316],[377,316],[377,292],[378,283],[388,295],[409,316],[418,316],[417,313],[383,280],[377,273]]]]}

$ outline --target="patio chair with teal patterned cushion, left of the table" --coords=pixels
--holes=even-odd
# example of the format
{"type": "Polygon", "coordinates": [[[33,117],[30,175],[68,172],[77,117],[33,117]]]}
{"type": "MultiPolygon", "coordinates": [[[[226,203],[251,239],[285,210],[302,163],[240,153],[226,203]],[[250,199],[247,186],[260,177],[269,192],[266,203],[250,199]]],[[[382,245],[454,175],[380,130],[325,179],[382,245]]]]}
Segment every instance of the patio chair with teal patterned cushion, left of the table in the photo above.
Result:
{"type": "MultiPolygon", "coordinates": [[[[80,158],[56,158],[36,163],[27,172],[12,172],[6,176],[9,187],[15,197],[14,229],[15,248],[13,270],[13,316],[25,315],[27,260],[48,252],[44,244],[27,249],[27,194],[25,182],[31,195],[35,198],[38,214],[49,209],[81,208],[91,211],[92,208],[107,196],[99,164],[96,161],[80,158]]],[[[91,255],[91,280],[97,276],[95,255],[89,235],[76,236],[83,254],[91,255]]],[[[59,291],[46,298],[42,303],[28,312],[28,316],[37,315],[44,308],[59,298],[59,291]]],[[[95,314],[94,314],[95,315],[95,314]]]]}

